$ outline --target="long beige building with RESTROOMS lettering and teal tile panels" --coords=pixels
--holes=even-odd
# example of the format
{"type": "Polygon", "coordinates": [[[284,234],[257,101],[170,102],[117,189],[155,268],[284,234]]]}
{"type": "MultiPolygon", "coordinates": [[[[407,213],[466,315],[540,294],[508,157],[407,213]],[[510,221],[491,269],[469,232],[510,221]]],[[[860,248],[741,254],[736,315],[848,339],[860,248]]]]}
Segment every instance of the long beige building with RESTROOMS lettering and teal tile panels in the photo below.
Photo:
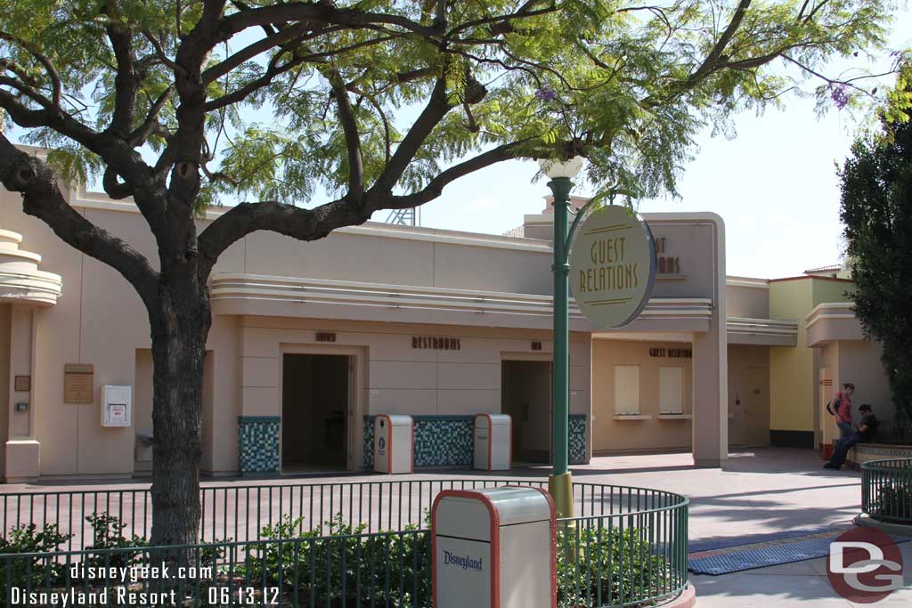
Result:
{"type": "MultiPolygon", "coordinates": [[[[81,187],[68,196],[157,259],[130,201],[81,187]]],[[[823,442],[815,383],[852,370],[864,386],[858,366],[877,371],[851,311],[826,304],[814,277],[726,277],[714,214],[646,219],[659,273],[637,320],[601,331],[571,305],[571,461],[691,450],[697,464],[720,466],[730,444],[823,442]],[[810,299],[779,294],[808,282],[810,299]]],[[[212,274],[203,471],[364,469],[381,413],[415,418],[416,467],[469,465],[482,412],[513,416],[516,461],[546,462],[550,224],[544,212],[492,236],[368,222],[319,242],[257,232],[235,243],[212,274]]],[[[0,191],[0,226],[0,478],[148,472],[150,330],[139,297],[23,214],[18,195],[0,191]]]]}

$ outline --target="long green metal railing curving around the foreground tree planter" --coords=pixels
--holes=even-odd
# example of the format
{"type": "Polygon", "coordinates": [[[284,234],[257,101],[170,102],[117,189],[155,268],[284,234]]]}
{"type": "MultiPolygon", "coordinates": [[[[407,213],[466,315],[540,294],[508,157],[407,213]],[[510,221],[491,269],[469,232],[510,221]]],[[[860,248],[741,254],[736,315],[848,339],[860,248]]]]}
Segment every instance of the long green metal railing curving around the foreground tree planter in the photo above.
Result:
{"type": "MultiPolygon", "coordinates": [[[[5,495],[0,497],[5,498],[4,530],[9,520],[27,518],[39,528],[54,520],[59,531],[74,534],[78,541],[67,540],[61,543],[64,551],[53,553],[0,554],[0,586],[18,585],[25,593],[73,589],[115,593],[119,585],[154,592],[158,586],[161,593],[173,588],[188,605],[244,603],[244,594],[253,593],[257,601],[275,599],[290,606],[430,608],[426,524],[434,498],[443,489],[504,485],[540,488],[545,482],[387,479],[209,486],[201,490],[201,543],[181,548],[145,544],[150,508],[144,489],[110,490],[98,496],[87,496],[91,492],[5,495]],[[117,517],[117,525],[123,526],[120,534],[132,537],[128,544],[143,546],[99,544],[97,518],[94,530],[91,521],[76,525],[93,512],[117,517]],[[58,513],[66,513],[64,520],[58,513]],[[193,576],[172,580],[168,587],[160,579],[131,583],[93,579],[81,568],[149,565],[161,562],[166,554],[173,568],[183,567],[193,576]]],[[[657,489],[575,483],[574,502],[575,517],[557,524],[558,605],[655,604],[684,591],[689,506],[685,497],[657,489]]],[[[104,533],[110,531],[105,524],[104,533]]],[[[0,605],[23,599],[9,593],[0,598],[0,605]]],[[[43,598],[26,599],[40,603],[43,598]]]]}

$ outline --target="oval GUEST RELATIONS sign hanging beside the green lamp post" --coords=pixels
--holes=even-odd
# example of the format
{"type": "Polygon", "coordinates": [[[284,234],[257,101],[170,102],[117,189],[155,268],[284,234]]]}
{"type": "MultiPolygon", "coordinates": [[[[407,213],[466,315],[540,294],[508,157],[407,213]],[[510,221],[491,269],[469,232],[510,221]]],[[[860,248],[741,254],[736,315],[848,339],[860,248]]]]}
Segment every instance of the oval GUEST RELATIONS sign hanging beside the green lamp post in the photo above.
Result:
{"type": "Polygon", "coordinates": [[[656,244],[646,222],[627,207],[596,209],[570,254],[576,305],[598,327],[620,327],[646,307],[656,282],[656,244]]]}

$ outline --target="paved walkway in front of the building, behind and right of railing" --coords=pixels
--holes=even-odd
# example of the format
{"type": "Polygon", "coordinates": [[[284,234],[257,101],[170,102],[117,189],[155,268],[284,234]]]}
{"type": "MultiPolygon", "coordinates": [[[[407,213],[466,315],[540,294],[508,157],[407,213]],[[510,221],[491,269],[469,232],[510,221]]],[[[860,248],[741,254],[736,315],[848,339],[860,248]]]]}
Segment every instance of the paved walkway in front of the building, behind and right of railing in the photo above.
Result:
{"type": "MultiPolygon", "coordinates": [[[[827,525],[848,525],[858,512],[860,479],[852,471],[823,469],[812,450],[758,449],[731,454],[726,469],[696,469],[689,454],[617,456],[594,459],[585,467],[573,467],[578,481],[666,489],[689,496],[690,540],[741,537],[827,525]]],[[[491,477],[544,479],[547,469],[524,469],[491,477]]],[[[430,472],[397,479],[443,479],[453,472],[430,472]]],[[[459,477],[487,477],[472,471],[456,471],[459,477]]],[[[318,479],[326,483],[377,480],[376,476],[318,479]]],[[[307,479],[306,481],[316,481],[307,479]]],[[[305,481],[283,478],[288,485],[305,481]]],[[[217,479],[204,486],[274,484],[275,479],[251,481],[217,479]]],[[[111,489],[144,489],[146,483],[106,483],[111,489]]],[[[88,489],[85,485],[0,485],[0,494],[39,489],[42,491],[88,489]]],[[[95,489],[94,487],[92,489],[95,489]]],[[[912,584],[912,543],[900,545],[907,566],[907,585],[912,584]]],[[[830,608],[854,605],[834,593],[826,579],[825,559],[772,566],[722,576],[692,576],[700,608],[735,606],[803,606],[830,608]]],[[[859,604],[860,605],[860,604],[859,604]]],[[[875,604],[877,605],[877,604],[875,604]]],[[[879,605],[912,605],[912,589],[893,593],[879,605]]]]}

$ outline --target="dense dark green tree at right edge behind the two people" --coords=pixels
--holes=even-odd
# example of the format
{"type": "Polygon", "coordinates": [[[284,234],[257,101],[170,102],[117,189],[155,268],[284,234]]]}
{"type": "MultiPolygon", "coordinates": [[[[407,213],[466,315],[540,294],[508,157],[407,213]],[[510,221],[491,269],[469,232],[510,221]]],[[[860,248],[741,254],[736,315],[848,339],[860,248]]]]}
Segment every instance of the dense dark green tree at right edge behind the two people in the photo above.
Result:
{"type": "Polygon", "coordinates": [[[855,315],[880,342],[897,412],[912,419],[912,67],[880,112],[881,129],[855,141],[840,171],[855,315]]]}

